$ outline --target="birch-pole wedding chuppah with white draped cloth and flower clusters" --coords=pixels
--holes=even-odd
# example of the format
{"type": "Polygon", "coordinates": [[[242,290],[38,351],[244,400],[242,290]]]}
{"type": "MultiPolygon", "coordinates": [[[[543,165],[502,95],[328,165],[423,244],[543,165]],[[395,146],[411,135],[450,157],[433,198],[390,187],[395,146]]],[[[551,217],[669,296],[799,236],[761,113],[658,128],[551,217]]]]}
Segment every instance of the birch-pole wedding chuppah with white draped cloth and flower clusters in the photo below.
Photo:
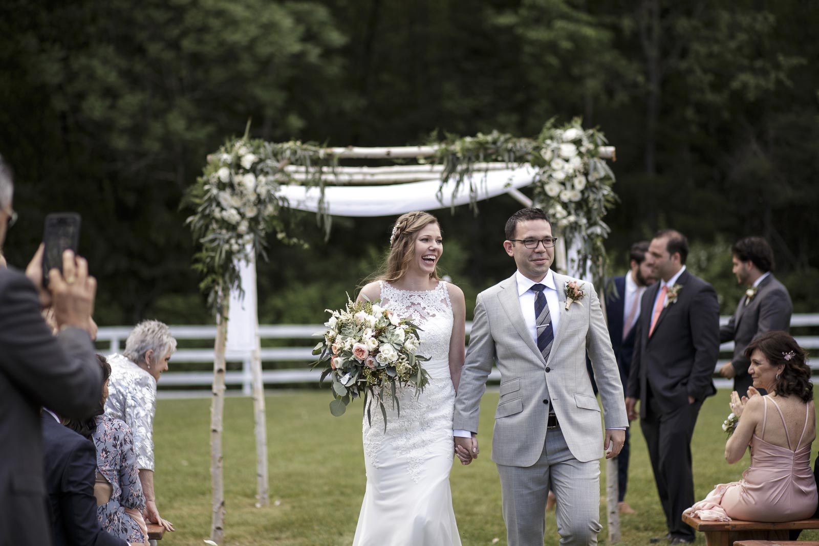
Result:
{"type": "MultiPolygon", "coordinates": [[[[188,223],[201,246],[194,267],[202,275],[201,289],[208,296],[218,324],[211,412],[211,539],[219,543],[224,535],[221,414],[229,324],[256,332],[246,339],[246,350],[254,355],[253,394],[260,461],[257,499],[259,503],[267,499],[258,320],[255,313],[247,314],[247,320],[240,324],[237,315],[230,312],[229,295],[238,292],[249,300],[247,308],[255,309],[256,287],[242,283],[241,268],[253,270],[256,256],[265,254],[270,230],[278,232],[280,240],[298,242],[288,235],[278,217],[280,210],[288,207],[315,211],[328,229],[331,215],[375,216],[440,209],[474,204],[506,192],[524,205],[534,201],[543,206],[553,219],[555,231],[561,235],[555,251],[559,268],[573,277],[597,281],[604,276],[604,240],[609,233],[603,217],[615,199],[613,174],[605,158],[613,158],[613,147],[605,146],[601,133],[583,129],[579,120],[561,128],[547,124],[537,138],[478,134],[429,147],[322,148],[301,142],[252,140],[246,134],[208,156],[208,165],[188,196],[196,210],[188,223]],[[362,158],[412,159],[417,163],[339,165],[341,160],[362,158]],[[336,187],[334,182],[346,186],[336,187]],[[519,192],[523,187],[532,187],[531,198],[519,192]],[[229,316],[230,322],[226,320],[229,316]]],[[[232,300],[235,306],[242,297],[232,300]]],[[[616,506],[616,502],[613,504],[616,506]]],[[[614,522],[610,537],[618,535],[616,518],[616,511],[609,512],[609,522],[614,522]]]]}

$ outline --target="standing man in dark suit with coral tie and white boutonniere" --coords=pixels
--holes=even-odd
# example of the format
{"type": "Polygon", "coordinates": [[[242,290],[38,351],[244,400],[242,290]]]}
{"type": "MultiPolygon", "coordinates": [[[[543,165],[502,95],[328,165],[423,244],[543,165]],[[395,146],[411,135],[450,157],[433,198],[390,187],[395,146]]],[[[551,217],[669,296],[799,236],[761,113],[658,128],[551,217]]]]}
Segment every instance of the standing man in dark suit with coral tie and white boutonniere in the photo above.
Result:
{"type": "Polygon", "coordinates": [[[640,428],[671,544],[694,542],[694,530],[681,521],[694,504],[691,436],[704,399],[717,391],[717,293],[686,271],[687,256],[688,241],[674,230],[658,232],[649,245],[646,260],[660,282],[640,302],[626,399],[632,419],[641,401],[640,428]]]}

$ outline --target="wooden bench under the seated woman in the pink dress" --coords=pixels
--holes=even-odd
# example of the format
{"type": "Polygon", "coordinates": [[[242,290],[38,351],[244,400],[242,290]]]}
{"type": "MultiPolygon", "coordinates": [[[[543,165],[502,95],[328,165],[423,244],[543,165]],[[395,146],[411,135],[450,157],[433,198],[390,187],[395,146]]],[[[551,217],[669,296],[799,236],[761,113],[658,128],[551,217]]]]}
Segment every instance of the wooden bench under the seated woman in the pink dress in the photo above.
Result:
{"type": "MultiPolygon", "coordinates": [[[[735,541],[788,540],[788,532],[795,529],[819,529],[819,519],[765,523],[762,521],[703,521],[683,514],[682,521],[705,533],[707,546],[731,546],[735,541]]],[[[799,544],[806,544],[800,542],[799,544]]]]}

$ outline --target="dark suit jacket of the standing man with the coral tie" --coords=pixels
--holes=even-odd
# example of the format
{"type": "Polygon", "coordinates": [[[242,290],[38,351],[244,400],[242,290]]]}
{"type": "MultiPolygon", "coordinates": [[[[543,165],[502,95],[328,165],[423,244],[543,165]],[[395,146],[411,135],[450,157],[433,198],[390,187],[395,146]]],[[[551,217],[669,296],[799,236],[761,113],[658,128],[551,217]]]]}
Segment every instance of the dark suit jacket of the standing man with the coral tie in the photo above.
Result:
{"type": "MultiPolygon", "coordinates": [[[[650,286],[640,300],[627,389],[629,396],[645,400],[650,386],[661,413],[687,405],[689,396],[703,400],[717,393],[711,378],[719,354],[717,292],[687,269],[676,284],[682,286],[676,302],[660,313],[651,336],[651,315],[660,282],[650,286]]],[[[640,404],[640,417],[646,416],[647,405],[640,404]]]]}

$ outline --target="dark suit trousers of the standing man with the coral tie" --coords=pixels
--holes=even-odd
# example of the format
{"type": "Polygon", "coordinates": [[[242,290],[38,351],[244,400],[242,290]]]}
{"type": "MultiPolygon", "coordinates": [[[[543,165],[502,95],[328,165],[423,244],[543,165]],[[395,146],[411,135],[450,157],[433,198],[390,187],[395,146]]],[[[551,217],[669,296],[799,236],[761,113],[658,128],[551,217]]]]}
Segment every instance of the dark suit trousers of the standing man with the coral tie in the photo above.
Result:
{"type": "Polygon", "coordinates": [[[694,473],[691,470],[691,436],[702,400],[671,413],[661,413],[650,387],[640,428],[648,444],[654,482],[672,538],[694,539],[694,530],[682,522],[682,512],[694,504],[694,473]]]}

